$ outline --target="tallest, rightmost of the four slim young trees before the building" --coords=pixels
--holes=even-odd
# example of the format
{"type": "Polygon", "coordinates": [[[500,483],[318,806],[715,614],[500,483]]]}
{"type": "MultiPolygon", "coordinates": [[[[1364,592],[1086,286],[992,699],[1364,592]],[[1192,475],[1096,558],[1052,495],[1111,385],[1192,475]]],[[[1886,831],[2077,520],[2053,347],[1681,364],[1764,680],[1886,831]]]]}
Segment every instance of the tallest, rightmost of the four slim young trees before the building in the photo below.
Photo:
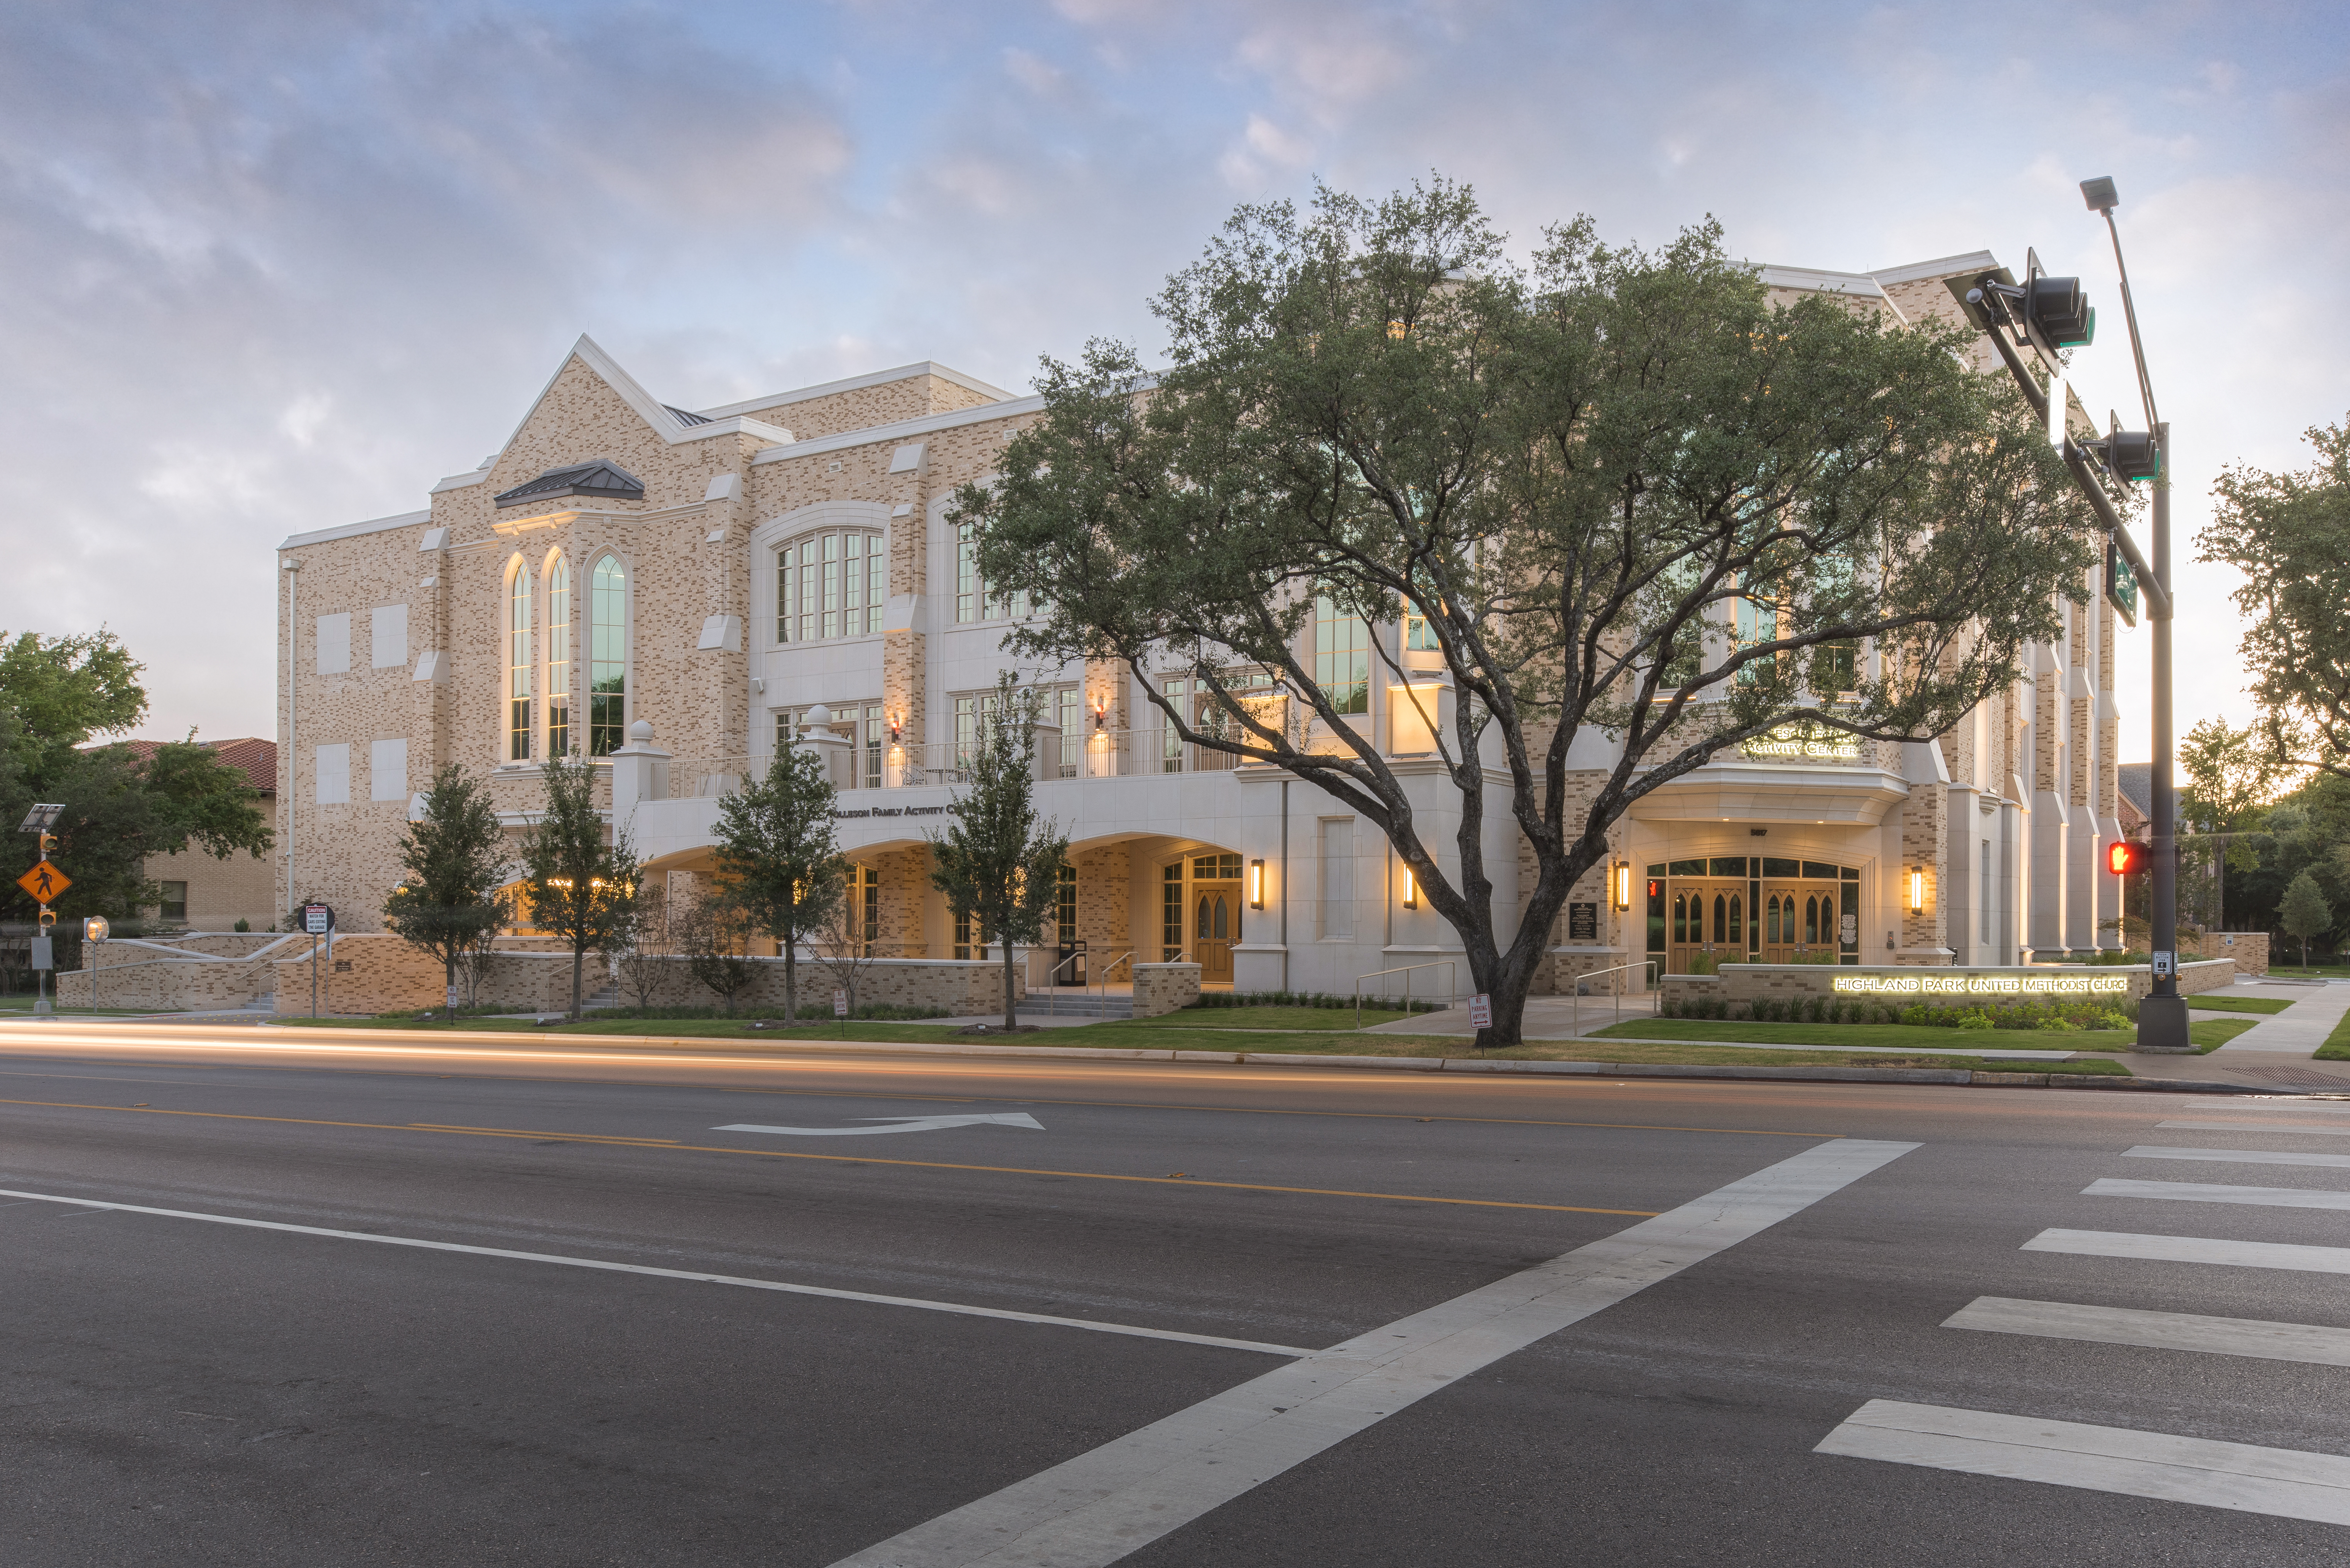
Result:
{"type": "Polygon", "coordinates": [[[1036,816],[1034,686],[1006,670],[994,708],[964,762],[971,785],[947,804],[947,832],[931,837],[931,886],[956,919],[973,919],[982,943],[1003,945],[1003,1027],[1020,1027],[1013,990],[1015,947],[1043,940],[1060,889],[1069,835],[1036,816]]]}

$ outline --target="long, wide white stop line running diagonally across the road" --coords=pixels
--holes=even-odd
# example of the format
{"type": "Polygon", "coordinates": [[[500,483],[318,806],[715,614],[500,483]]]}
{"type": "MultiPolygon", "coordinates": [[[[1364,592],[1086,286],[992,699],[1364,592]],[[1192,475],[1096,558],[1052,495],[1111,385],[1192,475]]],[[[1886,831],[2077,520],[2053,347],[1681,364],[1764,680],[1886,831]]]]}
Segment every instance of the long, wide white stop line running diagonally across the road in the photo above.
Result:
{"type": "Polygon", "coordinates": [[[1614,1237],[1177,1410],[834,1568],[1102,1568],[1915,1147],[1840,1138],[1805,1150],[1614,1237]]]}

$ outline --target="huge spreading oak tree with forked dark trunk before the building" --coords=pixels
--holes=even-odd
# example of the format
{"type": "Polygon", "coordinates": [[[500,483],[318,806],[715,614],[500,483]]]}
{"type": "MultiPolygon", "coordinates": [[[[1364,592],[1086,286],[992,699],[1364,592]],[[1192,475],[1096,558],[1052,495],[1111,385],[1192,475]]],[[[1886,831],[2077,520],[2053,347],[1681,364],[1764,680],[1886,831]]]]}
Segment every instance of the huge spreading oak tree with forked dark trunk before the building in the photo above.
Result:
{"type": "Polygon", "coordinates": [[[1241,207],[1154,308],[1168,371],[1048,360],[999,477],[956,491],[987,583],[1046,607],[1013,646],[1126,663],[1182,741],[1384,832],[1492,994],[1478,1046],[1518,1041],[1640,797],[1788,722],[1936,736],[2087,592],[2087,508],[1965,329],[1774,306],[1713,226],[1647,254],[1574,221],[1520,273],[1462,186],[1321,190],[1241,207]],[[1396,623],[1441,705],[1368,630],[1396,623]],[[1375,668],[1436,736],[1443,858],[1358,726],[1375,668]],[[1506,947],[1495,811],[1532,870],[1506,947]]]}

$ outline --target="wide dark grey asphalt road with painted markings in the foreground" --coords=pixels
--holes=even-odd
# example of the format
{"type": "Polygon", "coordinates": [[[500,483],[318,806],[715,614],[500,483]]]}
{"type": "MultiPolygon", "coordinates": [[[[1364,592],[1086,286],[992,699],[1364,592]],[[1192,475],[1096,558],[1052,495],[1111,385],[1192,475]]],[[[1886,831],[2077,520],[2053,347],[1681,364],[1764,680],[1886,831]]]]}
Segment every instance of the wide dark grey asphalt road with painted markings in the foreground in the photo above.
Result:
{"type": "Polygon", "coordinates": [[[0,1561],[2331,1561],[2345,1131],[9,1025],[0,1561]]]}

